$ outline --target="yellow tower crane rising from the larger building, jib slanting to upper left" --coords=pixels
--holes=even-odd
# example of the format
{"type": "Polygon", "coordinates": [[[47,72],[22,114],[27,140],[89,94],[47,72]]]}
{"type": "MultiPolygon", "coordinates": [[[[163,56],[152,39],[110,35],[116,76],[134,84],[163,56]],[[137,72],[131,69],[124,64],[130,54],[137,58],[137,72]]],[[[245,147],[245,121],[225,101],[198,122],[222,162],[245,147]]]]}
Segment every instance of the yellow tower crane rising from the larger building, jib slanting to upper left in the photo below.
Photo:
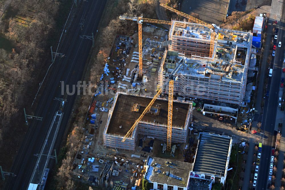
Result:
{"type": "Polygon", "coordinates": [[[160,6],[170,10],[170,11],[173,11],[174,13],[178,14],[178,15],[181,15],[185,18],[187,18],[189,21],[192,21],[194,23],[198,23],[198,24],[201,24],[203,25],[204,27],[207,27],[210,29],[211,31],[211,42],[210,42],[210,55],[209,57],[211,58],[213,56],[213,52],[214,52],[214,46],[215,46],[215,33],[220,33],[224,36],[226,36],[228,39],[230,40],[234,40],[236,41],[236,38],[234,38],[232,35],[228,35],[226,33],[224,33],[223,31],[221,31],[221,29],[219,29],[215,24],[208,24],[208,23],[205,23],[199,19],[196,19],[195,17],[192,17],[190,15],[187,15],[186,13],[183,13],[183,12],[180,12],[176,9],[173,9],[172,7],[169,7],[163,3],[160,3],[160,6]]]}

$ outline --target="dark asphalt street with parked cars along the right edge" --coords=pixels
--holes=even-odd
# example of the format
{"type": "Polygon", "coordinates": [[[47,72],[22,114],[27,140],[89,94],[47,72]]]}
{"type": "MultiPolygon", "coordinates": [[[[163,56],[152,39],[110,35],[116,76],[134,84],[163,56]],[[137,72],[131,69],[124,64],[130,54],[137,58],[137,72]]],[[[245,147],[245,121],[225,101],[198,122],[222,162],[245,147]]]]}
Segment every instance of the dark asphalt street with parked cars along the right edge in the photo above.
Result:
{"type": "MultiPolygon", "coordinates": [[[[266,99],[264,112],[263,112],[262,128],[264,129],[264,136],[262,140],[262,152],[261,152],[262,157],[260,159],[260,170],[258,173],[256,189],[267,189],[267,184],[270,183],[268,182],[269,165],[270,165],[271,149],[272,146],[274,145],[274,142],[272,142],[272,138],[275,127],[276,112],[278,108],[278,97],[279,97],[279,89],[281,83],[281,74],[282,74],[284,51],[285,51],[285,30],[284,30],[285,6],[282,7],[280,13],[281,13],[281,21],[278,32],[277,44],[279,41],[281,41],[282,47],[276,48],[276,55],[272,60],[270,67],[273,69],[273,74],[268,81],[268,90],[270,90],[270,94],[269,97],[266,99]]],[[[269,20],[269,23],[272,23],[272,20],[269,20]]],[[[274,25],[268,25],[267,35],[273,35],[272,32],[273,27],[274,25]]]]}

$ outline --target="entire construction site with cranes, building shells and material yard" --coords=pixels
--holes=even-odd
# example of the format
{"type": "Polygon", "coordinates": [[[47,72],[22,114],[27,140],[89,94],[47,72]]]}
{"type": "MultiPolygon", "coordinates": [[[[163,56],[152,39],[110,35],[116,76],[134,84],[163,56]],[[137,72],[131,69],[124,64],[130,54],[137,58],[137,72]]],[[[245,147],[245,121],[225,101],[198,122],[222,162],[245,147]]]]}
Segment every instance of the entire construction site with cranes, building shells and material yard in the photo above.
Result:
{"type": "Polygon", "coordinates": [[[161,6],[189,21],[119,17],[139,30],[116,36],[90,104],[73,171],[91,185],[136,189],[147,180],[150,189],[185,190],[225,183],[231,136],[197,130],[193,112],[196,99],[210,100],[197,109],[201,115],[237,122],[239,110],[229,104],[246,104],[252,33],[161,6]]]}

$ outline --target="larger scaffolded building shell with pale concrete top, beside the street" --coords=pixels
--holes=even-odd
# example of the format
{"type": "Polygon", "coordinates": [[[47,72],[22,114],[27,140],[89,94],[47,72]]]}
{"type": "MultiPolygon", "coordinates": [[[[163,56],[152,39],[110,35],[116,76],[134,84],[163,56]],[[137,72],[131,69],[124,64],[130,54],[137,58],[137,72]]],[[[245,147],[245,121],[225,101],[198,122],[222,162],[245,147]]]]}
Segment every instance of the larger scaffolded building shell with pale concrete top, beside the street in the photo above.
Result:
{"type": "Polygon", "coordinates": [[[253,36],[251,32],[223,32],[235,40],[216,35],[211,53],[209,28],[173,20],[158,86],[164,83],[180,56],[186,56],[186,64],[176,74],[174,95],[243,105],[253,36]]]}

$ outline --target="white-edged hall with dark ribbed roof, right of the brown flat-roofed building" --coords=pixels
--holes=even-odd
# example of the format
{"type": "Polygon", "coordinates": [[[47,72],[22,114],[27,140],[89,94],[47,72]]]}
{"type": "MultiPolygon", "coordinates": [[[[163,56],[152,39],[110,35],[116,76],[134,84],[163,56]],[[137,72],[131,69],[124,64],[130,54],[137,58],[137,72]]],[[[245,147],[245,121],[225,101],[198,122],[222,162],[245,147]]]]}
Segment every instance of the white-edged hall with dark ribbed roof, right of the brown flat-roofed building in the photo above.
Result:
{"type": "Polygon", "coordinates": [[[229,136],[200,133],[190,177],[225,184],[231,147],[232,138],[229,136]]]}

